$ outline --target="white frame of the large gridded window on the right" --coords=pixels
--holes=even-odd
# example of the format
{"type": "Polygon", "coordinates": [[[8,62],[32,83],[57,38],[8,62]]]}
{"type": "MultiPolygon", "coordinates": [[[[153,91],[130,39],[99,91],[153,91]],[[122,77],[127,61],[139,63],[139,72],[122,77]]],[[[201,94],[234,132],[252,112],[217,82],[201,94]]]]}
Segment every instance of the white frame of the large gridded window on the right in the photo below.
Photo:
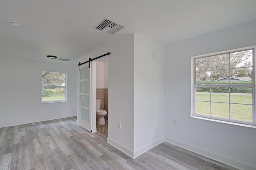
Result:
{"type": "MultiPolygon", "coordinates": [[[[203,119],[207,121],[214,121],[214,122],[219,122],[219,123],[226,123],[226,124],[232,124],[232,125],[239,125],[239,126],[244,126],[244,127],[252,127],[256,128],[256,101],[255,101],[255,96],[256,96],[256,91],[255,91],[255,79],[256,79],[256,69],[255,69],[255,62],[256,62],[256,46],[250,46],[250,47],[244,47],[244,48],[238,48],[238,49],[232,49],[232,50],[227,50],[227,51],[220,51],[216,53],[208,53],[204,55],[197,55],[191,57],[191,115],[190,117],[192,118],[197,118],[197,119],[203,119]],[[238,84],[238,85],[196,85],[196,59],[198,58],[204,58],[204,57],[211,57],[215,55],[223,55],[227,53],[234,53],[234,52],[239,52],[239,51],[246,51],[246,50],[252,50],[252,85],[243,85],[243,84],[238,84]],[[224,119],[220,117],[212,117],[212,116],[206,116],[206,115],[198,115],[196,114],[196,87],[252,87],[252,123],[251,122],[246,122],[246,121],[238,121],[238,120],[233,120],[233,119],[224,119]]],[[[229,67],[229,69],[232,69],[229,67]]],[[[212,70],[212,69],[211,69],[212,70]]],[[[211,79],[212,81],[212,79],[211,79]]],[[[230,81],[230,80],[229,80],[230,81]]],[[[212,101],[210,101],[212,103],[212,101]]],[[[230,105],[229,101],[229,105],[230,105]]]]}

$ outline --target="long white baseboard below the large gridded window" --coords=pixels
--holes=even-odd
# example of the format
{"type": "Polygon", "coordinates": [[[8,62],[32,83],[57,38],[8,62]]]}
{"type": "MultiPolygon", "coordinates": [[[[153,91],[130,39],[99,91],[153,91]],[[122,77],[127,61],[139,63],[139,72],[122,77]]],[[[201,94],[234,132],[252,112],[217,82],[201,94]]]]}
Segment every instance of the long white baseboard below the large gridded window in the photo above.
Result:
{"type": "Polygon", "coordinates": [[[232,166],[234,168],[238,168],[241,170],[256,170],[256,166],[252,164],[248,164],[246,162],[243,162],[241,160],[236,160],[234,158],[230,158],[228,156],[218,154],[216,152],[212,152],[210,150],[207,150],[205,148],[200,148],[198,146],[182,142],[180,140],[165,136],[165,142],[168,142],[170,144],[173,144],[175,146],[178,146],[180,148],[189,150],[191,152],[194,152],[196,154],[200,154],[202,156],[205,156],[206,158],[210,158],[212,160],[216,160],[218,162],[224,163],[226,165],[232,166]]]}

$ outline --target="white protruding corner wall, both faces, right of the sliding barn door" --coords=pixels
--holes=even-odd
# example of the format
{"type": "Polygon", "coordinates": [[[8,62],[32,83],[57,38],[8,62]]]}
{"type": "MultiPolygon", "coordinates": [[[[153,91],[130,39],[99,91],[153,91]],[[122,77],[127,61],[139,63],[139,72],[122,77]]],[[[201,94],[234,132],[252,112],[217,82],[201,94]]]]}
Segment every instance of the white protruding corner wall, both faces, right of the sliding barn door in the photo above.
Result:
{"type": "MultiPolygon", "coordinates": [[[[80,62],[106,52],[111,52],[108,143],[135,158],[164,141],[164,47],[130,35],[80,62]],[[157,52],[156,58],[152,58],[152,50],[157,52]]],[[[104,73],[105,68],[104,62],[104,73]]]]}

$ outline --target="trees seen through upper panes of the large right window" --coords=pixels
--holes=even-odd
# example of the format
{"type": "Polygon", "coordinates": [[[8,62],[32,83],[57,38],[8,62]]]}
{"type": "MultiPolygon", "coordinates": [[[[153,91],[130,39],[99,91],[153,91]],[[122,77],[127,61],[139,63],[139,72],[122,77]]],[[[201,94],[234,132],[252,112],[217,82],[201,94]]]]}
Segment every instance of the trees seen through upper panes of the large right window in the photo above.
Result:
{"type": "Polygon", "coordinates": [[[205,81],[210,80],[211,76],[212,80],[224,77],[252,78],[252,50],[196,59],[196,79],[205,81]]]}

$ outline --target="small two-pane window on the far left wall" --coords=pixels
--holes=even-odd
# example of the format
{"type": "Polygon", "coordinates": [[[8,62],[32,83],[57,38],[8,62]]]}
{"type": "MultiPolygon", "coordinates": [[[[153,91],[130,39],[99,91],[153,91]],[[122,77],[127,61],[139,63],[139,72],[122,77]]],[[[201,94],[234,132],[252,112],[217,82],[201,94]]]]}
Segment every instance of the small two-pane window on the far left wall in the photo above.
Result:
{"type": "Polygon", "coordinates": [[[42,72],[42,103],[66,101],[66,73],[42,72]]]}

